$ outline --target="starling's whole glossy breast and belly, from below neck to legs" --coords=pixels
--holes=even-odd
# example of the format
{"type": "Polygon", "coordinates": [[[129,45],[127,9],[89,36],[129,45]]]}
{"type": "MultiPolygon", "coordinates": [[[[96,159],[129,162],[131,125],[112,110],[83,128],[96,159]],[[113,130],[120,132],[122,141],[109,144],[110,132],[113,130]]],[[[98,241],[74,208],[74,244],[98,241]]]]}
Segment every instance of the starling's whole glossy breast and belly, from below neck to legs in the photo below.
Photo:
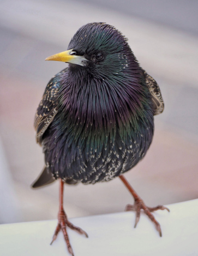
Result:
{"type": "Polygon", "coordinates": [[[65,93],[45,139],[45,161],[55,178],[82,183],[111,180],[131,169],[153,136],[149,104],[107,87],[65,93]],[[66,96],[65,96],[66,95],[66,96]]]}

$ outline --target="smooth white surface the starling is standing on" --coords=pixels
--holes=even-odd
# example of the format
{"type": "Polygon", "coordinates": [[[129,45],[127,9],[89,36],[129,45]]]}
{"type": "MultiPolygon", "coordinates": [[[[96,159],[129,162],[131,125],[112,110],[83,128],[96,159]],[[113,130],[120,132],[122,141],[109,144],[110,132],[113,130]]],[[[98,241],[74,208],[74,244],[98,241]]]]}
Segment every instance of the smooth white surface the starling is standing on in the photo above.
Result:
{"type": "MultiPolygon", "coordinates": [[[[170,204],[170,213],[154,215],[161,224],[163,237],[141,215],[136,229],[134,212],[71,219],[89,238],[68,229],[75,256],[82,255],[198,255],[198,199],[170,204]]],[[[47,209],[46,209],[47,211],[47,209]]],[[[50,246],[57,220],[4,224],[0,226],[1,255],[69,255],[62,233],[50,246]]]]}

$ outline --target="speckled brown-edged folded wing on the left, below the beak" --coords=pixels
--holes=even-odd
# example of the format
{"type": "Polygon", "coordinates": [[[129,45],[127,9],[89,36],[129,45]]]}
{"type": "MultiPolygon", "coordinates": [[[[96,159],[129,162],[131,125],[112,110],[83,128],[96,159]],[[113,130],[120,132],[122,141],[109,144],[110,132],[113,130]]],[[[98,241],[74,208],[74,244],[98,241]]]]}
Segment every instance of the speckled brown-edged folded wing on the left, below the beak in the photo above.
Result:
{"type": "Polygon", "coordinates": [[[41,144],[41,138],[47,127],[49,127],[58,112],[58,92],[61,86],[62,76],[64,76],[64,73],[67,72],[67,70],[68,68],[62,70],[51,78],[45,88],[37,112],[35,113],[34,128],[37,132],[36,140],[39,144],[41,144]]]}

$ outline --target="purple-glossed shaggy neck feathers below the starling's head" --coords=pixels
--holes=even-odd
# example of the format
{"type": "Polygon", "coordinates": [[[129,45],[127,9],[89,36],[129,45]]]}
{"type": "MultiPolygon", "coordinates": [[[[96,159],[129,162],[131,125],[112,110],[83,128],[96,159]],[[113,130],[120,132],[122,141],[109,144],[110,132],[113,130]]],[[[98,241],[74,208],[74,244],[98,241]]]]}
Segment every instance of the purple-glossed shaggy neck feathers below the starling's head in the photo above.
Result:
{"type": "Polygon", "coordinates": [[[139,129],[139,121],[152,115],[148,89],[141,79],[141,74],[133,73],[97,79],[83,69],[69,69],[63,79],[61,109],[75,126],[86,130],[139,129]]]}

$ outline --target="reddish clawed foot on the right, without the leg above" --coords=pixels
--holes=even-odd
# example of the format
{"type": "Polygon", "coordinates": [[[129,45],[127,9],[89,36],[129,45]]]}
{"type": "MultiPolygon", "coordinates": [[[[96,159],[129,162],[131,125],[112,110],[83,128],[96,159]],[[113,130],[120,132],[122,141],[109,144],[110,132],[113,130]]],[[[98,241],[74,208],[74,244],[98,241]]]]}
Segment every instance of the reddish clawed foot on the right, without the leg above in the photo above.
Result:
{"type": "Polygon", "coordinates": [[[136,198],[133,205],[127,204],[127,206],[125,207],[125,211],[135,211],[136,212],[134,227],[137,226],[137,223],[140,219],[140,210],[141,209],[143,209],[143,211],[146,213],[148,218],[151,219],[151,221],[154,223],[157,231],[159,232],[159,235],[162,236],[160,224],[158,223],[157,220],[155,220],[152,212],[157,211],[157,210],[167,210],[168,212],[170,212],[169,208],[167,208],[165,206],[161,206],[161,205],[156,206],[156,207],[147,207],[146,204],[143,202],[143,200],[141,200],[141,198],[136,198]]]}

